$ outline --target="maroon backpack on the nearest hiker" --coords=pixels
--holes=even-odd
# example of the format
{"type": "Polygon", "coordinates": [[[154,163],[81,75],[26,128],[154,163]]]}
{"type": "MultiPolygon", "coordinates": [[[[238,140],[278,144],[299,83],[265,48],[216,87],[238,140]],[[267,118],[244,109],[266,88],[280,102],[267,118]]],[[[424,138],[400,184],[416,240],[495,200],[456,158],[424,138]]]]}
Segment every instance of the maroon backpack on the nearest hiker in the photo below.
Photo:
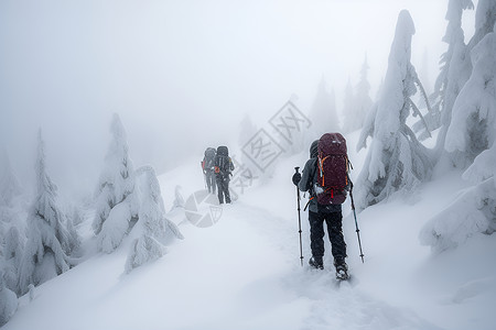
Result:
{"type": "Polygon", "coordinates": [[[346,199],[349,162],[346,140],[339,133],[326,133],[319,140],[315,195],[320,205],[339,205],[346,199]]]}

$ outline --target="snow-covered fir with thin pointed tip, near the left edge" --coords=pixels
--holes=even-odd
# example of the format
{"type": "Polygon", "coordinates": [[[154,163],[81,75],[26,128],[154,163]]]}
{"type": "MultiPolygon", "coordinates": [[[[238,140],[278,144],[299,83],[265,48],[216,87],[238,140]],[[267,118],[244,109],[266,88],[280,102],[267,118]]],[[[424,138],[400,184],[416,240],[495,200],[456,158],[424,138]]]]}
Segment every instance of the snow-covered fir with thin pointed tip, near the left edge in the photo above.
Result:
{"type": "Polygon", "coordinates": [[[57,187],[46,173],[44,142],[39,133],[36,196],[26,221],[26,243],[19,270],[20,294],[69,270],[68,254],[77,246],[56,200],[57,187]]]}

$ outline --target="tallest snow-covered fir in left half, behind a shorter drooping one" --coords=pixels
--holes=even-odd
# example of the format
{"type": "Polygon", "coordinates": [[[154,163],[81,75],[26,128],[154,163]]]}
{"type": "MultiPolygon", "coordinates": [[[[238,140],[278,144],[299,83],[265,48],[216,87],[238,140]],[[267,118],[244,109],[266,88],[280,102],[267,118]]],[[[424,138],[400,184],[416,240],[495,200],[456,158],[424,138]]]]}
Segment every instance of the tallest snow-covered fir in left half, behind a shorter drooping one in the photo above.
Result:
{"type": "Polygon", "coordinates": [[[98,249],[106,253],[114,252],[138,221],[134,169],[126,131],[117,113],[112,117],[110,133],[112,140],[98,183],[93,221],[98,249]]]}

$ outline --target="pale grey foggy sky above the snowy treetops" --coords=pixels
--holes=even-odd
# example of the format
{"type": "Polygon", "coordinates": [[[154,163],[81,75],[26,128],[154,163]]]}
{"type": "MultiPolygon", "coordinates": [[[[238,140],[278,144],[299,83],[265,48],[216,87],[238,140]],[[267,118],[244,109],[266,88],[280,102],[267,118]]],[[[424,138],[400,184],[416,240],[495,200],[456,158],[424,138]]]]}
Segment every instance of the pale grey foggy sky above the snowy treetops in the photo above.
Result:
{"type": "Polygon", "coordinates": [[[291,97],[308,112],[322,77],[339,110],[366,56],[375,99],[401,9],[416,23],[412,63],[429,89],[446,8],[448,0],[3,0],[0,145],[29,183],[41,128],[54,182],[90,190],[117,112],[136,166],[162,173],[200,162],[206,146],[237,143],[246,113],[260,127],[291,97]]]}

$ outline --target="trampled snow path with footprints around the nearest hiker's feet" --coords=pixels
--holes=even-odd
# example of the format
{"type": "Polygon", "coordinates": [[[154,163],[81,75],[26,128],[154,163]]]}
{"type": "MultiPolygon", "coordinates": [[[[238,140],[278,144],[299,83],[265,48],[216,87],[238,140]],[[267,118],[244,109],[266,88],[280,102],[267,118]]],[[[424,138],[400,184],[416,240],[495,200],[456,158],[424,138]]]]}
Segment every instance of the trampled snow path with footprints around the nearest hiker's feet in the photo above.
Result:
{"type": "MultiPolygon", "coordinates": [[[[295,253],[298,237],[294,234],[294,223],[267,217],[267,211],[257,210],[254,206],[236,205],[235,207],[239,208],[239,213],[242,215],[250,212],[266,215],[265,218],[254,217],[255,221],[247,217],[245,221],[250,221],[250,224],[257,228],[258,235],[270,235],[271,248],[281,251],[287,261],[278,282],[287,294],[291,293],[292,299],[281,302],[300,306],[299,308],[302,309],[298,311],[301,315],[300,326],[292,328],[294,324],[281,324],[282,318],[273,324],[277,324],[276,329],[397,329],[399,327],[401,329],[440,329],[422,320],[412,311],[392,307],[369,296],[360,288],[360,280],[357,277],[351,283],[338,284],[334,279],[331,262],[327,262],[326,270],[313,271],[308,267],[308,256],[305,256],[304,267],[301,267],[295,253]],[[261,226],[261,222],[265,224],[261,226]]],[[[302,224],[305,226],[306,219],[302,220],[302,224]]],[[[304,243],[305,241],[304,239],[304,243]]],[[[258,326],[257,329],[269,329],[265,323],[258,326]]]]}

